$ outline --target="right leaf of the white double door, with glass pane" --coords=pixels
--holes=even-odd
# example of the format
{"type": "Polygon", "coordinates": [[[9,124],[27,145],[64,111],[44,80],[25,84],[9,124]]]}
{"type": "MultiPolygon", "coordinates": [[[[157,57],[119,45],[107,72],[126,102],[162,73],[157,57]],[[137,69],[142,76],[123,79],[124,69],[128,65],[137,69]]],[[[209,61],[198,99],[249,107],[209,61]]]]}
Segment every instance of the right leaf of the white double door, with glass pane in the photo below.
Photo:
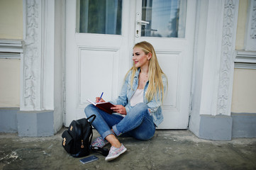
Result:
{"type": "Polygon", "coordinates": [[[160,129],[186,129],[189,123],[196,1],[136,1],[135,42],[148,41],[168,78],[160,129]],[[145,20],[146,23],[138,21],[145,20]],[[141,28],[141,25],[145,25],[141,28]],[[172,29],[174,28],[174,29],[172,29]],[[175,29],[176,28],[176,29],[175,29]],[[174,31],[176,30],[176,31],[174,31]]]}

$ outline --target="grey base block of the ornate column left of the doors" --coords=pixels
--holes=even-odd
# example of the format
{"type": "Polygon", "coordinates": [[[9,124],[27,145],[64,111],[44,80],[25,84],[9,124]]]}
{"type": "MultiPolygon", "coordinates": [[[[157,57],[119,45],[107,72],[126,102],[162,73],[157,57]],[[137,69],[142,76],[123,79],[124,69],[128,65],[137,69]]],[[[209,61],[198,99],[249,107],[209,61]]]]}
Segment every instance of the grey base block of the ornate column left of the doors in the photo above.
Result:
{"type": "Polygon", "coordinates": [[[54,135],[53,111],[19,111],[18,136],[41,137],[54,135]]]}

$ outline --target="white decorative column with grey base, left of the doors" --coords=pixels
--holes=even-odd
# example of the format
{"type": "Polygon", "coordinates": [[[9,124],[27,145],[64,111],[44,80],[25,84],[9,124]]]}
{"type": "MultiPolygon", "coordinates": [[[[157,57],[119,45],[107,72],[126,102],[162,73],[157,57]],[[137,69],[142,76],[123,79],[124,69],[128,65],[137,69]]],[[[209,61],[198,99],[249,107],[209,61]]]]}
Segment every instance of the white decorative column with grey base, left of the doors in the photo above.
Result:
{"type": "Polygon", "coordinates": [[[23,0],[19,136],[54,134],[55,1],[23,0]]]}

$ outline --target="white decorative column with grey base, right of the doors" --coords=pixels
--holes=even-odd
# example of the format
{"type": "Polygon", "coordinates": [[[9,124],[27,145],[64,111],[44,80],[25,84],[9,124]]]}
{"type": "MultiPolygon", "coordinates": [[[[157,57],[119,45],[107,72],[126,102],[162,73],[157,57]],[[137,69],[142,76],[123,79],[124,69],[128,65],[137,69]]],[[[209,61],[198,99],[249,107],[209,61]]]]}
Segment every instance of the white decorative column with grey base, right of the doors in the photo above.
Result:
{"type": "Polygon", "coordinates": [[[231,140],[230,116],[239,0],[197,4],[193,106],[189,130],[207,140],[231,140]]]}

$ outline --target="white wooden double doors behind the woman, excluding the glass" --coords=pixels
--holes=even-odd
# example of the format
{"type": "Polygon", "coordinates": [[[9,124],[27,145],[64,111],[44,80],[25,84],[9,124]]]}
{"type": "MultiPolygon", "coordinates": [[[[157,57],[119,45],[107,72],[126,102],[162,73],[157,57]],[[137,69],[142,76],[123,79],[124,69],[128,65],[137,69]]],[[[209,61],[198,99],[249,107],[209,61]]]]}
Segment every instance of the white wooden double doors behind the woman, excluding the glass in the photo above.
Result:
{"type": "MultiPolygon", "coordinates": [[[[106,0],[106,3],[118,3],[120,1],[106,0]]],[[[152,1],[157,0],[150,1],[152,4],[152,1]]],[[[84,0],[84,3],[89,6],[88,0],[84,0]]],[[[142,8],[145,9],[143,3],[145,5],[145,1],[141,0],[123,0],[121,6],[121,33],[118,35],[118,33],[89,33],[87,30],[91,26],[89,22],[85,23],[85,31],[87,33],[80,33],[81,30],[78,30],[78,28],[81,29],[81,27],[77,24],[79,22],[79,15],[77,14],[79,8],[77,6],[84,4],[79,4],[74,0],[67,0],[65,126],[68,126],[74,119],[84,118],[84,108],[89,104],[87,103],[87,98],[94,100],[101,92],[104,92],[103,97],[106,101],[118,97],[123,84],[123,77],[132,66],[133,45],[135,42],[147,40],[155,47],[160,66],[167,74],[169,81],[168,93],[163,105],[164,122],[159,128],[187,128],[191,90],[195,1],[185,1],[186,6],[183,6],[182,10],[185,10],[186,13],[185,21],[183,21],[185,26],[179,24],[183,28],[183,32],[179,32],[182,32],[182,36],[184,36],[182,38],[157,38],[148,36],[145,33],[145,35],[141,35],[141,23],[137,21],[138,17],[143,17],[142,8]]],[[[154,7],[151,6],[151,8],[154,7]]],[[[162,9],[160,8],[160,10],[162,9]]],[[[165,10],[171,11],[170,8],[165,8],[165,10]]],[[[87,8],[85,12],[88,13],[88,11],[89,9],[87,8]]],[[[112,16],[115,16],[115,13],[112,16]]],[[[97,19],[96,16],[91,16],[91,18],[97,19]]],[[[105,18],[104,22],[107,19],[105,18]]],[[[89,21],[88,18],[87,21],[89,21]]],[[[152,19],[153,21],[154,19],[152,19]]],[[[111,24],[116,28],[115,23],[111,24]]],[[[108,23],[105,25],[108,25],[108,23]]],[[[150,24],[150,26],[153,25],[150,24]]],[[[150,29],[154,30],[154,28],[150,29]]],[[[105,31],[108,30],[105,29],[105,31]]]]}

